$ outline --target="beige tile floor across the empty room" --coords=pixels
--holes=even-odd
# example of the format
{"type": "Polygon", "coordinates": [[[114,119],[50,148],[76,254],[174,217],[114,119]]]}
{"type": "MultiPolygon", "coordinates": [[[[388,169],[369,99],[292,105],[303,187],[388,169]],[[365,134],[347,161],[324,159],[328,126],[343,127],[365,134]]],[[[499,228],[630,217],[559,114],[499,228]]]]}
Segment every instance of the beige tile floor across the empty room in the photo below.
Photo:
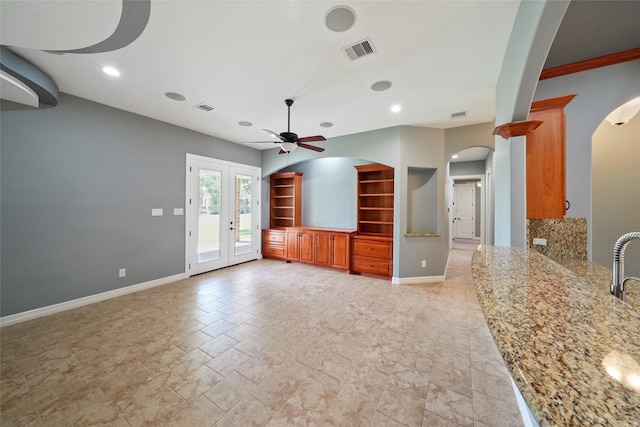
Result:
{"type": "Polygon", "coordinates": [[[259,260],[1,334],[0,424],[518,426],[471,284],[259,260]]]}

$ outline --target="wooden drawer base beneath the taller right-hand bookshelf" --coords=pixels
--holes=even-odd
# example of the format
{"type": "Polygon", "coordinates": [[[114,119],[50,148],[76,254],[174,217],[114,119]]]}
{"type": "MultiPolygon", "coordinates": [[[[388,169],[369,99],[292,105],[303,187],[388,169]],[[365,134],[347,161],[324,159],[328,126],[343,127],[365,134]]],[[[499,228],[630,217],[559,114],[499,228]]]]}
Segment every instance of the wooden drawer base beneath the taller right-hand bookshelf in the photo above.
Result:
{"type": "Polygon", "coordinates": [[[354,273],[391,277],[393,275],[393,239],[357,235],[353,237],[351,270],[354,273]]]}

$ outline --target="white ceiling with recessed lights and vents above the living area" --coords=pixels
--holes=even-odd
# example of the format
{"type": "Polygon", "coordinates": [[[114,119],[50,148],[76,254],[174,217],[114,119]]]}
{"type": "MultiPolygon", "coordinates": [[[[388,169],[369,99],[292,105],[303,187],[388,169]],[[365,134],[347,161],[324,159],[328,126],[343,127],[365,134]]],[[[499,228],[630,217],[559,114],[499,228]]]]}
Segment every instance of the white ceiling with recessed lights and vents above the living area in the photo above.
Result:
{"type": "Polygon", "coordinates": [[[295,99],[293,132],[331,138],[397,125],[492,121],[518,7],[515,0],[152,1],[148,25],[128,46],[60,55],[43,50],[104,40],[115,31],[123,3],[2,0],[0,42],[62,92],[225,140],[265,141],[263,128],[286,130],[286,98],[295,99]],[[337,5],[357,15],[344,32],[325,26],[337,5]],[[350,61],[341,48],[367,37],[377,52],[350,61]],[[121,76],[105,75],[106,65],[121,76]],[[372,91],[379,80],[393,85],[372,91]],[[187,101],[170,100],[166,92],[187,101]],[[195,109],[201,102],[218,110],[195,109]],[[393,104],[402,111],[391,113],[393,104]],[[460,111],[467,116],[450,118],[460,111]]]}

